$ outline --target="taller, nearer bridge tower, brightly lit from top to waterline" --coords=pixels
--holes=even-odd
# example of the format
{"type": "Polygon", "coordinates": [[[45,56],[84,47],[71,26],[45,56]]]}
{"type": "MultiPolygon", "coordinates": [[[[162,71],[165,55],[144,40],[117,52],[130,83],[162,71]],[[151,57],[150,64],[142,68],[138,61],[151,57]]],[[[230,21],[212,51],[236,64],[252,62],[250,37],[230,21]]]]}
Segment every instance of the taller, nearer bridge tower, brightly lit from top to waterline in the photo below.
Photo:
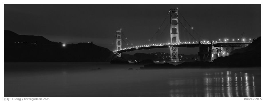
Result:
{"type": "MultiPolygon", "coordinates": [[[[170,9],[170,38],[172,43],[179,43],[179,20],[178,20],[178,8],[170,9]]],[[[171,62],[179,62],[179,48],[170,47],[170,60],[171,62]]]]}

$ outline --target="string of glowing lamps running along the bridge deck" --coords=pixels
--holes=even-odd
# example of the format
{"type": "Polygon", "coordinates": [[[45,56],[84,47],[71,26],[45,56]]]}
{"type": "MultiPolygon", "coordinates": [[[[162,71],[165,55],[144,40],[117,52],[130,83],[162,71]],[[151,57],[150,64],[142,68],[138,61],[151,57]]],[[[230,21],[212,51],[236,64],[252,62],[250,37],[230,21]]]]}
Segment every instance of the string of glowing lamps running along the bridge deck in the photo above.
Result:
{"type": "MultiPolygon", "coordinates": [[[[240,39],[237,39],[237,42],[239,42],[240,39]]],[[[150,39],[149,39],[150,41],[150,39]]],[[[228,42],[229,39],[224,39],[225,42],[228,42]]],[[[233,42],[235,42],[234,39],[232,39],[233,42]]],[[[246,40],[245,39],[242,39],[241,42],[245,42],[246,40]]],[[[249,39],[249,42],[251,41],[251,38],[249,39]]],[[[215,43],[223,43],[221,39],[219,39],[219,41],[213,41],[215,43]]],[[[211,42],[210,41],[201,41],[200,44],[210,44],[211,42]]],[[[141,45],[141,46],[133,46],[133,47],[128,47],[128,48],[122,48],[120,50],[115,50],[113,52],[116,52],[116,51],[121,51],[121,50],[128,50],[128,49],[132,49],[132,48],[142,48],[142,47],[151,47],[151,46],[168,46],[168,45],[180,45],[180,44],[199,44],[199,42],[195,41],[195,42],[179,42],[179,43],[160,43],[160,44],[148,44],[148,45],[141,45]]],[[[169,46],[170,47],[170,46],[169,46]]]]}

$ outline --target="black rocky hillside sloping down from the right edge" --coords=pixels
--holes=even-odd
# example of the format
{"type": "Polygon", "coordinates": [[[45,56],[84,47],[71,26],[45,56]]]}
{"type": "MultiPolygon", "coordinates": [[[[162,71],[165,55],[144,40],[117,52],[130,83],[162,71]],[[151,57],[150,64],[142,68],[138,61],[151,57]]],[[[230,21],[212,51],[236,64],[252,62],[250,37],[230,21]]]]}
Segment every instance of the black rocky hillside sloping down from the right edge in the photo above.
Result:
{"type": "Polygon", "coordinates": [[[231,52],[232,55],[218,57],[213,62],[184,62],[177,66],[256,67],[261,66],[261,37],[254,39],[245,48],[231,52]]]}

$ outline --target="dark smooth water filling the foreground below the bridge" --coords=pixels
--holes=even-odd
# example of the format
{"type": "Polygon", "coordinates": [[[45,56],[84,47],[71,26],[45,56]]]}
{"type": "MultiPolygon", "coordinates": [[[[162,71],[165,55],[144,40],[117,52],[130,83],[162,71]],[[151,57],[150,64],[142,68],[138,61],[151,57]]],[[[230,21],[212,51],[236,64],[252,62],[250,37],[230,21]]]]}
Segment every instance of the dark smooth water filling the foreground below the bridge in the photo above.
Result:
{"type": "Polygon", "coordinates": [[[4,62],[4,97],[261,97],[260,67],[135,70],[139,67],[4,62]],[[7,71],[12,67],[49,69],[7,71]]]}

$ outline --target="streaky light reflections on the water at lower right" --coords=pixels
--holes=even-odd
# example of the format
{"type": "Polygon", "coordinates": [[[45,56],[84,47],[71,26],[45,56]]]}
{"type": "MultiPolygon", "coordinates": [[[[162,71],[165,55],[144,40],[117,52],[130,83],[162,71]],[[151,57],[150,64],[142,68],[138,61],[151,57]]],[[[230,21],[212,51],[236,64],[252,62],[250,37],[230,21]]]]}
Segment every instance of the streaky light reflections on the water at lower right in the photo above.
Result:
{"type": "Polygon", "coordinates": [[[171,89],[171,97],[256,97],[254,75],[242,72],[214,72],[204,73],[203,79],[188,79],[169,81],[170,86],[189,85],[194,92],[187,92],[184,89],[171,89]],[[238,81],[238,78],[240,80],[238,81]],[[195,81],[195,82],[193,82],[195,81]],[[201,83],[201,84],[197,84],[201,83]],[[201,88],[193,88],[201,86],[201,88]],[[239,89],[240,88],[240,89],[239,89]],[[203,89],[203,90],[202,90],[203,89]],[[199,93],[197,91],[201,90],[199,93]],[[175,92],[174,92],[175,91],[175,92]],[[184,92],[184,93],[183,93],[184,92]]]}

